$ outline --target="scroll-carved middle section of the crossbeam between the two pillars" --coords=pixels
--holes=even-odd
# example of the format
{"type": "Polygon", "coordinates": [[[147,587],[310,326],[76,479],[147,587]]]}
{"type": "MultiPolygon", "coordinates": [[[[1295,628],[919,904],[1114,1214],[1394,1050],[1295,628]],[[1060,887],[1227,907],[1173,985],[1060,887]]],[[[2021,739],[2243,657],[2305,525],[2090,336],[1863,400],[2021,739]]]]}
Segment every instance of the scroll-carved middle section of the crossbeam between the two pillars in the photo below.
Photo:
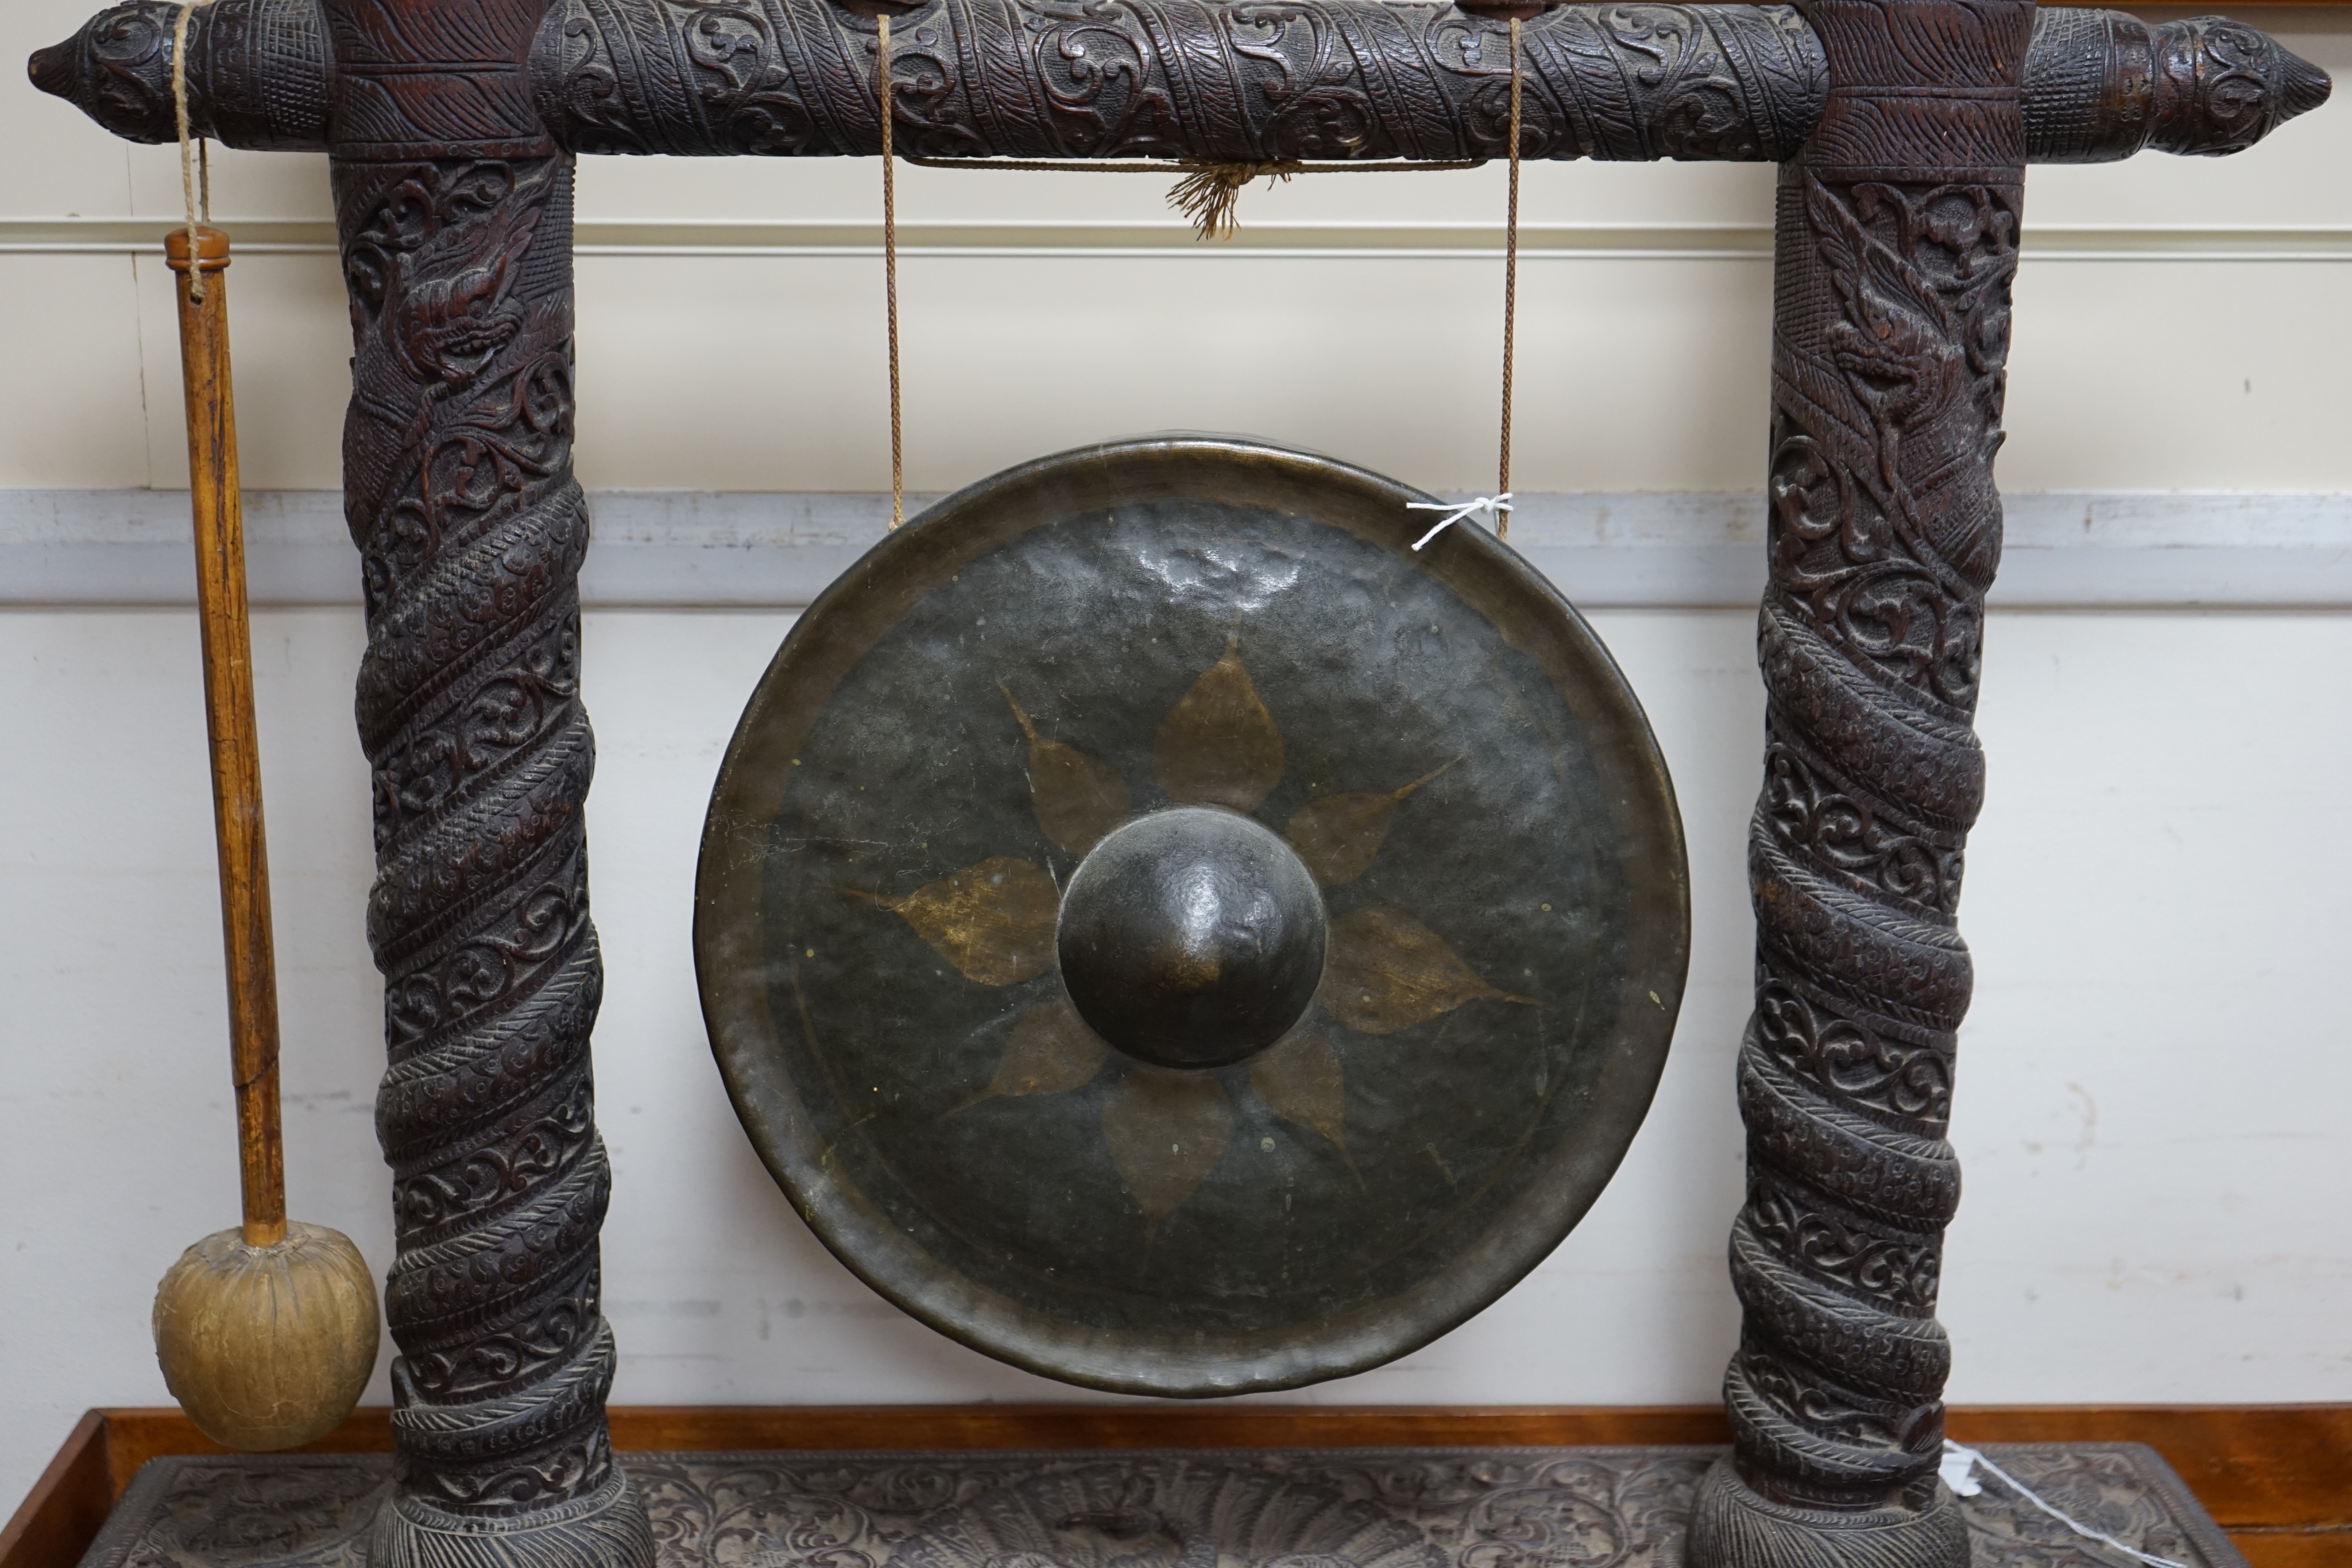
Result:
{"type": "MultiPolygon", "coordinates": [[[[1526,26],[1529,158],[1790,155],[1828,87],[1788,7],[1562,7],[1526,26]]],[[[873,24],[828,0],[564,0],[539,94],[595,153],[880,150],[873,24]]],[[[1501,155],[1503,28],[1439,5],[934,0],[891,35],[929,158],[1501,155]]]]}

